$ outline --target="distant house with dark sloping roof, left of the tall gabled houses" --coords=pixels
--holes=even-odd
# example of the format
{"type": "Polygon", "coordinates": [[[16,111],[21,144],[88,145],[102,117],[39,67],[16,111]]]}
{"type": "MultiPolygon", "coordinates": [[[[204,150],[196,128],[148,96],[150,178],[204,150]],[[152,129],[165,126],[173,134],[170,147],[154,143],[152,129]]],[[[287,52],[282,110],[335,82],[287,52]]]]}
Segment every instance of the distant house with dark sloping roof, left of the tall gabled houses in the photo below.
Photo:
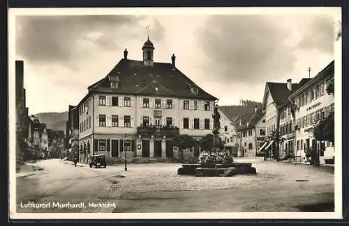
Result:
{"type": "Polygon", "coordinates": [[[240,138],[237,156],[257,156],[265,140],[265,112],[255,106],[252,112],[237,117],[235,126],[240,138]]]}

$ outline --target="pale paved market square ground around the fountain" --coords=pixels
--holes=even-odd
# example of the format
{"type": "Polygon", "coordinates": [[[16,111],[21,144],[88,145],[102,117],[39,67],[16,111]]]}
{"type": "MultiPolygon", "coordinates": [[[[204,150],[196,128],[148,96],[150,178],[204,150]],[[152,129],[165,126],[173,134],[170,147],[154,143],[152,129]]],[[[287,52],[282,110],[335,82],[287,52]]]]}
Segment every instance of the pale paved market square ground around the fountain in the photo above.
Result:
{"type": "Polygon", "coordinates": [[[255,160],[257,175],[205,178],[177,175],[180,163],[131,164],[127,172],[58,159],[38,165],[43,170],[17,178],[18,212],[334,211],[334,169],[327,167],[255,160]],[[20,207],[57,201],[86,207],[20,207]]]}

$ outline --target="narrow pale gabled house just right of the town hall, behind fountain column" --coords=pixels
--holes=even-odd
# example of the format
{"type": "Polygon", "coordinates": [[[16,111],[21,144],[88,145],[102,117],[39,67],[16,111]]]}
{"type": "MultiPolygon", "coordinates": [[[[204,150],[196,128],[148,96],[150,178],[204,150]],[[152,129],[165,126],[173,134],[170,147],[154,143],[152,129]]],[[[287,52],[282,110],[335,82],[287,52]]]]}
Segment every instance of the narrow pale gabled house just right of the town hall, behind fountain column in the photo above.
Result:
{"type": "Polygon", "coordinates": [[[220,106],[218,106],[218,113],[221,115],[219,136],[223,140],[225,150],[229,150],[233,156],[237,156],[239,136],[234,121],[220,106]]]}

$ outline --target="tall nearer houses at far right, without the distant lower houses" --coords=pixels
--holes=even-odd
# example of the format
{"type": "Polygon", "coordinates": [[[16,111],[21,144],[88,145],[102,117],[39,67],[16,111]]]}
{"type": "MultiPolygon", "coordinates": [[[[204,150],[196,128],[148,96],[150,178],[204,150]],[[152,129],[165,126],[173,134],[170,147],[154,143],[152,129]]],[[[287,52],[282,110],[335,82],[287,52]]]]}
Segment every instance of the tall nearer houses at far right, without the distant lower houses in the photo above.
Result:
{"type": "Polygon", "coordinates": [[[279,131],[281,144],[274,146],[271,155],[292,153],[297,161],[307,161],[306,153],[318,150],[320,161],[334,158],[334,143],[315,140],[312,128],[320,120],[334,113],[334,93],[327,92],[334,81],[334,60],[312,79],[302,79],[299,83],[266,83],[262,108],[266,112],[267,134],[279,131]]]}

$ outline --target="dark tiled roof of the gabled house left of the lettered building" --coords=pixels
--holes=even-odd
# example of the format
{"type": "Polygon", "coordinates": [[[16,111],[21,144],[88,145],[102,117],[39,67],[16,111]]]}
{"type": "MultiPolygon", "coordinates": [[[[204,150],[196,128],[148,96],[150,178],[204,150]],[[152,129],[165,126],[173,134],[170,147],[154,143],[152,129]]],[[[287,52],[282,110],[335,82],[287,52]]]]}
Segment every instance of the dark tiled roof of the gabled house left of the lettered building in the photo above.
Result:
{"type": "Polygon", "coordinates": [[[288,97],[293,92],[304,86],[304,84],[310,80],[311,79],[302,79],[299,81],[299,83],[292,83],[292,91],[288,90],[287,83],[267,82],[267,86],[269,88],[270,95],[272,95],[274,103],[280,106],[287,101],[288,97]]]}

